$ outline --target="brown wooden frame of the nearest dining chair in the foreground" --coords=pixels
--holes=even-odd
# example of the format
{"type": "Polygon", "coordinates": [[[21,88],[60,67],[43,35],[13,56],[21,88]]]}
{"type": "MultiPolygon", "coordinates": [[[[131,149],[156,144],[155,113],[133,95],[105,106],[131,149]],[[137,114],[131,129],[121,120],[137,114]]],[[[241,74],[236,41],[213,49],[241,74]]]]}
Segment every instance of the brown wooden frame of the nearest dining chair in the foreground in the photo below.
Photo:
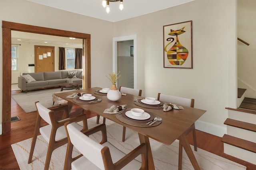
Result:
{"type": "MultiPolygon", "coordinates": [[[[65,123],[65,128],[68,136],[68,147],[67,147],[67,152],[66,152],[66,159],[65,159],[65,164],[64,164],[64,170],[70,170],[71,169],[71,163],[83,156],[82,154],[72,158],[72,150],[74,145],[70,141],[70,137],[68,135],[68,130],[67,130],[67,125],[69,122],[65,123]]],[[[89,136],[92,135],[93,133],[96,133],[98,131],[102,132],[102,141],[100,144],[103,144],[107,142],[107,132],[106,132],[106,125],[105,124],[100,124],[96,127],[93,127],[92,129],[89,130],[84,130],[81,131],[85,135],[89,136]]],[[[105,170],[120,170],[123,168],[126,164],[134,160],[137,156],[142,154],[142,165],[140,167],[140,170],[147,170],[148,169],[148,157],[147,157],[147,149],[146,149],[146,144],[142,143],[138,147],[136,147],[134,150],[126,154],[123,158],[118,160],[116,163],[112,162],[110,150],[108,147],[104,147],[102,149],[102,158],[105,166],[105,170]]]]}

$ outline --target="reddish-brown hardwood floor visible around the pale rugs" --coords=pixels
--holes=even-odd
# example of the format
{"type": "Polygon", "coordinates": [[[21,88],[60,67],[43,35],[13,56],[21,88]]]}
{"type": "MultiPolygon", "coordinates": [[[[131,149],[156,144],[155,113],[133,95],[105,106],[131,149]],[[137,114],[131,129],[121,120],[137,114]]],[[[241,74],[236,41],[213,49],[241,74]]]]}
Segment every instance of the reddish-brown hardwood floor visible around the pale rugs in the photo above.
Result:
{"type": "MultiPolygon", "coordinates": [[[[12,92],[17,93],[17,92],[12,92]]],[[[12,117],[19,116],[21,120],[11,123],[11,133],[6,135],[0,135],[0,169],[12,169],[19,170],[18,163],[12,151],[11,144],[29,139],[33,136],[34,126],[36,122],[36,112],[25,113],[14,100],[12,103],[12,117]]],[[[71,116],[75,116],[78,113],[76,111],[80,110],[79,107],[74,106],[72,109],[71,116]]],[[[86,113],[87,117],[96,116],[95,113],[86,113]]],[[[45,123],[45,122],[42,122],[45,123]]],[[[190,144],[193,144],[192,133],[187,135],[190,144]]],[[[233,156],[224,154],[223,143],[221,142],[221,137],[217,137],[202,131],[196,130],[196,138],[198,148],[207,150],[216,155],[222,156],[239,164],[247,167],[247,170],[255,170],[256,165],[249,162],[240,160],[233,156]]]]}

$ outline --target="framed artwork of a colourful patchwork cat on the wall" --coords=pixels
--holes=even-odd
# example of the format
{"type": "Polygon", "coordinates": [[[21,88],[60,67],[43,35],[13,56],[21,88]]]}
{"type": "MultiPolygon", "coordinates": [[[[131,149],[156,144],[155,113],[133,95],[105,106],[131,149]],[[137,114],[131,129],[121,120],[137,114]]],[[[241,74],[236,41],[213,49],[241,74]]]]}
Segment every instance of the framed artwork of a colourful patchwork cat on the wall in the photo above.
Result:
{"type": "Polygon", "coordinates": [[[163,26],[164,68],[193,68],[192,21],[163,26]]]}

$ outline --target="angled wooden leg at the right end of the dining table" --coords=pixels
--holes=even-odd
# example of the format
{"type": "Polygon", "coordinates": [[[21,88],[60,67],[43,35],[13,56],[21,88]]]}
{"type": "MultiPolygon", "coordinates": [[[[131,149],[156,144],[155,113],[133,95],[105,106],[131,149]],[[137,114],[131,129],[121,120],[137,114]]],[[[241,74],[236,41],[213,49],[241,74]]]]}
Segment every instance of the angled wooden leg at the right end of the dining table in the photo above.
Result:
{"type": "MultiPolygon", "coordinates": [[[[192,164],[192,166],[194,167],[195,170],[200,170],[200,167],[198,165],[198,162],[196,161],[196,157],[188,143],[188,140],[186,138],[186,135],[183,133],[180,137],[179,137],[179,140],[180,140],[180,147],[181,149],[179,149],[179,159],[180,159],[180,154],[182,156],[182,147],[184,148],[184,150],[186,151],[187,155],[188,155],[188,158],[192,164]],[[180,153],[181,152],[181,153],[180,153]]],[[[181,164],[182,164],[182,160],[181,160],[181,164]]],[[[179,160],[179,165],[180,165],[180,160],[179,160]]],[[[181,167],[179,167],[179,170],[181,169],[181,167]]]]}

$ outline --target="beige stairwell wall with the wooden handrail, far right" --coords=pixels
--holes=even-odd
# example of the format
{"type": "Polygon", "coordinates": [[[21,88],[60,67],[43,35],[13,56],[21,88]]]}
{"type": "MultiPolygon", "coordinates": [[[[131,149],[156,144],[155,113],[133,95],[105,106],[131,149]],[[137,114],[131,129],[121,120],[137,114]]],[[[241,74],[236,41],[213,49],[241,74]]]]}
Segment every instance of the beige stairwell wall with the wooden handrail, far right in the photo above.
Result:
{"type": "Polygon", "coordinates": [[[250,45],[238,42],[238,87],[246,88],[245,97],[256,98],[256,1],[238,0],[238,37],[250,45]]]}

